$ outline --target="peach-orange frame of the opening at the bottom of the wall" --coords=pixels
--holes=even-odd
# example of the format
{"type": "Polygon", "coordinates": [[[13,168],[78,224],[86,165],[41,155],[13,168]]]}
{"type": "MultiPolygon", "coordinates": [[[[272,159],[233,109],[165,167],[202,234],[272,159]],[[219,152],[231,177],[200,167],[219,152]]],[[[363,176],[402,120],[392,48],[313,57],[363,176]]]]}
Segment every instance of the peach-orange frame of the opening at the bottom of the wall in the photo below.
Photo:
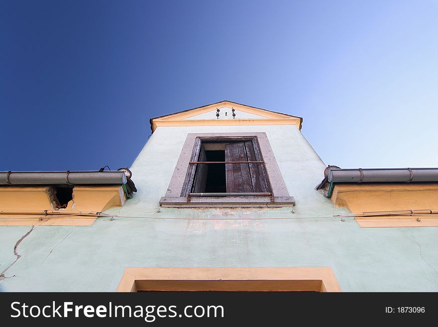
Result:
{"type": "Polygon", "coordinates": [[[341,292],[330,267],[126,268],[117,292],[140,290],[341,292]]]}

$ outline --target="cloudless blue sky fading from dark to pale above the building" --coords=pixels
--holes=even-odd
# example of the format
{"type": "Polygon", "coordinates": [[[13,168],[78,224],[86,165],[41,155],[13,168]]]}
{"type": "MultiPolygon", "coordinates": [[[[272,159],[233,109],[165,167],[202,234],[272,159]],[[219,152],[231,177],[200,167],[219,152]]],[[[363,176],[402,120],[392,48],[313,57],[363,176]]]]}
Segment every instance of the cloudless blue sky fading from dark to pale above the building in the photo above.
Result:
{"type": "Polygon", "coordinates": [[[221,100],[303,117],[326,164],[438,166],[438,0],[0,0],[0,170],[130,166],[221,100]]]}

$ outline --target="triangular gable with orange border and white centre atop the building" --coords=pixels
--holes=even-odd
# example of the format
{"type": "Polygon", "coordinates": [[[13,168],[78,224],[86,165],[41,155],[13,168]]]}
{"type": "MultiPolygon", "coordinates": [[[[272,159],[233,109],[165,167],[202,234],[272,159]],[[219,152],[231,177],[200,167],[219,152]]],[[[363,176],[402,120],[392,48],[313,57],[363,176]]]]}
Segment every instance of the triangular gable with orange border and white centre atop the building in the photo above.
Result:
{"type": "Polygon", "coordinates": [[[303,118],[270,111],[266,109],[241,105],[231,101],[221,101],[215,104],[184,110],[150,119],[151,130],[157,126],[188,126],[188,125],[297,125],[301,129],[303,118]],[[216,110],[219,109],[219,119],[216,110]],[[231,109],[236,114],[232,117],[231,109]],[[225,112],[227,113],[225,116],[225,112]]]}

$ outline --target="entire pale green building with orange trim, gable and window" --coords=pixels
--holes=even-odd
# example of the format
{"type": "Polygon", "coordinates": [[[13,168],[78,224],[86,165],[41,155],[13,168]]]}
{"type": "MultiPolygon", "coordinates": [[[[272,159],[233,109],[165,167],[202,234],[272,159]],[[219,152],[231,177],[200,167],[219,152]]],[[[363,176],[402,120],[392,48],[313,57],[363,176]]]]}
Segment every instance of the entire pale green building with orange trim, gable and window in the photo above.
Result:
{"type": "Polygon", "coordinates": [[[0,290],[438,291],[438,170],[326,169],[301,125],[229,101],[152,118],[136,193],[3,173],[0,290]]]}

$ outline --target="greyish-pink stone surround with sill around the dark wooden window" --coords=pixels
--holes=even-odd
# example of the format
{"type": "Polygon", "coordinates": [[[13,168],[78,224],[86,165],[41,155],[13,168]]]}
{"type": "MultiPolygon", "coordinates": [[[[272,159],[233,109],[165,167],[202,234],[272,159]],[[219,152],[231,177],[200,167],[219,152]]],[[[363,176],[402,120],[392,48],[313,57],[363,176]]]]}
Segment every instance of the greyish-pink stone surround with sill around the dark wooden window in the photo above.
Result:
{"type": "MultiPolygon", "coordinates": [[[[199,155],[199,152],[198,152],[199,155]]],[[[193,172],[194,174],[194,172],[193,172]]],[[[295,205],[294,197],[284,183],[274,153],[265,132],[233,132],[233,133],[188,133],[181,150],[178,162],[171,177],[166,194],[160,199],[162,207],[292,207],[295,205]],[[187,196],[190,189],[187,180],[190,174],[191,161],[197,160],[196,149],[201,141],[209,140],[255,140],[262,160],[265,162],[267,181],[271,186],[271,196],[225,196],[225,197],[198,197],[187,196]],[[195,159],[196,158],[196,159],[195,159]]]]}

